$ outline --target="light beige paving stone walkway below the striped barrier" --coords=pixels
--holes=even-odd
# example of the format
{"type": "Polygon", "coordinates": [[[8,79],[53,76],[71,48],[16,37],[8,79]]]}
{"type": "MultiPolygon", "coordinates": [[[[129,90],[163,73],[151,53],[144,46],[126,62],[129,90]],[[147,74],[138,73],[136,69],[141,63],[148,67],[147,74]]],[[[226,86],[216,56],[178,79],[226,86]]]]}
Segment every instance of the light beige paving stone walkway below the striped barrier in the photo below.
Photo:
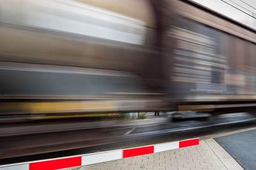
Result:
{"type": "Polygon", "coordinates": [[[137,170],[137,169],[178,169],[178,170],[202,170],[202,169],[243,169],[236,160],[214,139],[200,141],[200,145],[189,146],[169,150],[166,152],[152,153],[138,157],[129,157],[99,164],[81,167],[88,169],[112,169],[112,170],[137,170]],[[223,156],[225,155],[225,156],[223,156]]]}

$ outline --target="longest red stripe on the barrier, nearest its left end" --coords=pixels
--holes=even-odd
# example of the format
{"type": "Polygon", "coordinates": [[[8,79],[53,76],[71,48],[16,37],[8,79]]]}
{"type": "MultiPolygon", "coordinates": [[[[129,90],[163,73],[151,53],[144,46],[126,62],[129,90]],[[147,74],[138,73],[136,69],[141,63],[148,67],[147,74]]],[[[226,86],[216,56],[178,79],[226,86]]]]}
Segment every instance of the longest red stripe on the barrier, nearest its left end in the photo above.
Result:
{"type": "Polygon", "coordinates": [[[72,157],[66,159],[48,160],[29,164],[29,170],[54,170],[67,167],[81,166],[82,157],[72,157]]]}

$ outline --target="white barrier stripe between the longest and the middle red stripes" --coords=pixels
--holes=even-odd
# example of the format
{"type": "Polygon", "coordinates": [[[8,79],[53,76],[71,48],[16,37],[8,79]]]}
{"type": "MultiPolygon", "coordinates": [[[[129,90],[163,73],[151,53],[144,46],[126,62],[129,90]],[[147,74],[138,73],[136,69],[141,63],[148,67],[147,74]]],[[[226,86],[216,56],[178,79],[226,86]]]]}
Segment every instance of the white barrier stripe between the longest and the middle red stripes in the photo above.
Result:
{"type": "Polygon", "coordinates": [[[107,162],[109,160],[122,159],[122,150],[111,150],[108,152],[92,153],[82,156],[82,166],[107,162]]]}

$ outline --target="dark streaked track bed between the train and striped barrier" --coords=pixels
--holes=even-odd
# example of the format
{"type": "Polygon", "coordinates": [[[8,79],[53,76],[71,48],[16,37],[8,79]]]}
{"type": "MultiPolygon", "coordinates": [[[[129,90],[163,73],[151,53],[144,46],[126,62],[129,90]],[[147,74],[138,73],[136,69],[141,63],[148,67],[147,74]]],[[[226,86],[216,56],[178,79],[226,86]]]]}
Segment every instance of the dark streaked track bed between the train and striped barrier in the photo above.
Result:
{"type": "Polygon", "coordinates": [[[189,120],[186,122],[172,122],[168,115],[161,114],[160,117],[148,115],[145,120],[132,121],[69,120],[38,124],[30,122],[22,124],[23,126],[7,124],[3,127],[5,131],[2,129],[0,132],[0,164],[198,138],[209,134],[255,127],[255,123],[255,116],[236,113],[211,117],[204,121],[189,120]],[[45,129],[42,130],[40,127],[45,129]]]}

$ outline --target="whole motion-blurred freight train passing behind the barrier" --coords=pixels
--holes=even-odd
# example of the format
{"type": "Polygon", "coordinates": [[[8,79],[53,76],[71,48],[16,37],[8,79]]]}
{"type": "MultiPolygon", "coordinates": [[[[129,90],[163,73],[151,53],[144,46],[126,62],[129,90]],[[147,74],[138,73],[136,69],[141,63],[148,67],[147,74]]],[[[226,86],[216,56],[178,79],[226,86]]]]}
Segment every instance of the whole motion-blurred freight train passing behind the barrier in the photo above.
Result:
{"type": "Polygon", "coordinates": [[[255,30],[178,0],[1,0],[0,113],[256,106],[255,30]]]}

